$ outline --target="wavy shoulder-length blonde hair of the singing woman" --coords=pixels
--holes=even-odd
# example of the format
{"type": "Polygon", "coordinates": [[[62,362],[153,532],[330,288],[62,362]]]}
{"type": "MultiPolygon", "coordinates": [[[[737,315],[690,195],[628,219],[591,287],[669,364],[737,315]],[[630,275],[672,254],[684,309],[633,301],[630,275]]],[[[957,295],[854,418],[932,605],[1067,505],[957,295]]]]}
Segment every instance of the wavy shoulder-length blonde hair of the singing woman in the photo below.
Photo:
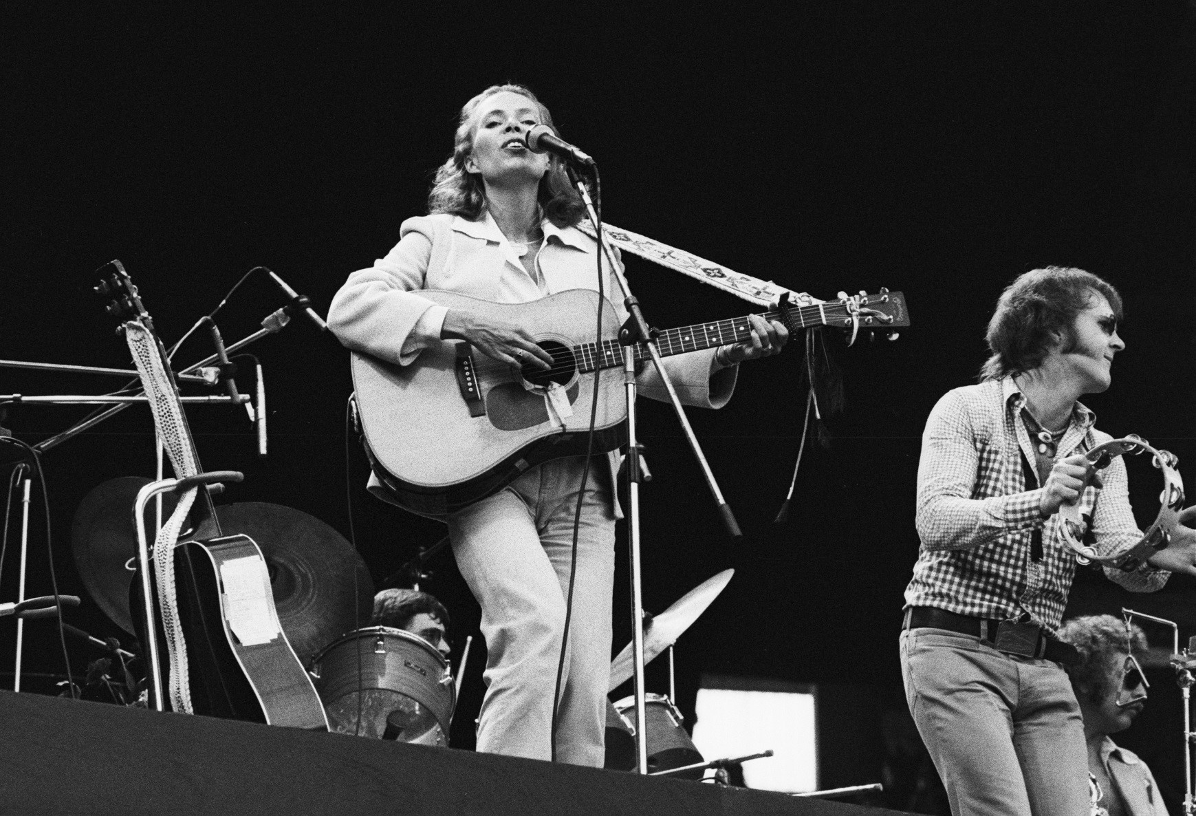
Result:
{"type": "MultiPolygon", "coordinates": [[[[428,214],[450,213],[471,221],[482,218],[486,212],[486,185],[482,183],[481,176],[465,172],[465,160],[474,150],[476,128],[474,111],[477,110],[483,99],[504,91],[527,97],[536,104],[539,121],[553,128],[553,133],[561,135],[553,123],[553,115],[548,112],[548,108],[536,98],[535,93],[523,85],[492,85],[460,109],[460,121],[457,126],[452,156],[437,169],[432,191],[428,193],[428,214]]],[[[586,212],[581,196],[573,189],[565,175],[565,165],[555,156],[550,156],[548,159],[548,172],[539,179],[539,190],[536,197],[544,211],[544,217],[557,227],[575,225],[586,212]]]]}

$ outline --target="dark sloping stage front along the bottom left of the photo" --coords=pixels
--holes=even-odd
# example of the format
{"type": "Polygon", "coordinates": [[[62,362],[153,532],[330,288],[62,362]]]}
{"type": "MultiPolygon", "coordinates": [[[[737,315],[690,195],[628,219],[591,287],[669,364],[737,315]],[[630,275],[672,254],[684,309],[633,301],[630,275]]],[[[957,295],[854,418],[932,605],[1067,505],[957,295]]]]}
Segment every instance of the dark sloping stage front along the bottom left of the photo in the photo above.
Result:
{"type": "Polygon", "coordinates": [[[896,812],[11,692],[0,721],[5,812],[896,812]]]}

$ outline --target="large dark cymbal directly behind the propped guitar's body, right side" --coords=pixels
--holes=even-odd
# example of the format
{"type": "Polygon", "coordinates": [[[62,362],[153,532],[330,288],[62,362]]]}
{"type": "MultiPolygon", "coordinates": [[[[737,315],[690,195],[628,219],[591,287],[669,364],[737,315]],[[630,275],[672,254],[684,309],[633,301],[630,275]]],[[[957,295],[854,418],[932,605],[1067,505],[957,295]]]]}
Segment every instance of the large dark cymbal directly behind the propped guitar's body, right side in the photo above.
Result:
{"type": "Polygon", "coordinates": [[[305,666],[346,632],[370,625],[373,580],[344,536],[301,510],[264,501],[216,507],[224,535],[240,532],[266,556],[279,622],[305,666]]]}

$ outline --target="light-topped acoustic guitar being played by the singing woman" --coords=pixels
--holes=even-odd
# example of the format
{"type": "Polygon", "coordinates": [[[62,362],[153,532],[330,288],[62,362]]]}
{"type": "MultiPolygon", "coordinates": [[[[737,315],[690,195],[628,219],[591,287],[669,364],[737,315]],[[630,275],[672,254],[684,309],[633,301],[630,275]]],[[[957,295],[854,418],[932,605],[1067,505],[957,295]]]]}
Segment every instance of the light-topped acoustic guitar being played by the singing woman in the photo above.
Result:
{"type": "MultiPolygon", "coordinates": [[[[593,333],[597,292],[568,290],[520,304],[438,290],[421,290],[420,297],[529,327],[554,365],[548,371],[526,365],[517,372],[463,341],[441,341],[408,366],[353,352],[366,453],[397,504],[415,513],[448,513],[496,493],[533,465],[585,455],[596,369],[594,452],[626,442],[623,347],[609,302],[602,303],[602,343],[586,340],[593,333]]],[[[782,302],[763,317],[780,321],[791,333],[844,328],[853,340],[861,328],[890,331],[909,325],[902,293],[884,290],[813,305],[782,302]]],[[[657,347],[669,357],[750,336],[744,316],[661,331],[657,347]]],[[[634,354],[636,361],[649,358],[642,343],[634,354]]]]}

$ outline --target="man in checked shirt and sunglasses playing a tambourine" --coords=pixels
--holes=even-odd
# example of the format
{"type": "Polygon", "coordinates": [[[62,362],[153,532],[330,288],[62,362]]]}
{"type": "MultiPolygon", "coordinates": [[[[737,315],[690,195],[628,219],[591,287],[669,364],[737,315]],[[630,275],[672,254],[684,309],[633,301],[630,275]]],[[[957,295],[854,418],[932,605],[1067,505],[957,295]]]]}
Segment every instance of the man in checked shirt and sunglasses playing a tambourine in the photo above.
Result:
{"type": "Polygon", "coordinates": [[[1109,442],[1078,402],[1111,382],[1121,297],[1080,269],[1019,276],[989,322],[981,383],[947,392],[926,424],[902,674],[910,712],[956,816],[1087,816],[1084,724],[1055,637],[1075,574],[1057,511],[1078,504],[1105,574],[1139,592],[1196,574],[1191,510],[1170,543],[1142,540],[1125,464],[1099,474],[1109,442]],[[1140,553],[1141,554],[1141,553],[1140,553]]]}

